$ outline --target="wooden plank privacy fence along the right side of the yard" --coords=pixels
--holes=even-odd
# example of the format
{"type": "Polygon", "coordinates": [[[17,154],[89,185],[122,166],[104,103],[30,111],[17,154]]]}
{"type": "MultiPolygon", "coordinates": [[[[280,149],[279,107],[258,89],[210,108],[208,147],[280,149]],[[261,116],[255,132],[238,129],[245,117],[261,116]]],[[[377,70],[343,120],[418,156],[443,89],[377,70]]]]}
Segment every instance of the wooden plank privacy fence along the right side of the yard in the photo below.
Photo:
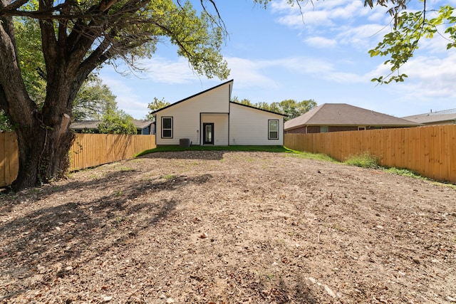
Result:
{"type": "Polygon", "coordinates": [[[368,152],[381,166],[410,169],[423,177],[456,183],[456,125],[286,134],[284,145],[340,161],[368,152]]]}

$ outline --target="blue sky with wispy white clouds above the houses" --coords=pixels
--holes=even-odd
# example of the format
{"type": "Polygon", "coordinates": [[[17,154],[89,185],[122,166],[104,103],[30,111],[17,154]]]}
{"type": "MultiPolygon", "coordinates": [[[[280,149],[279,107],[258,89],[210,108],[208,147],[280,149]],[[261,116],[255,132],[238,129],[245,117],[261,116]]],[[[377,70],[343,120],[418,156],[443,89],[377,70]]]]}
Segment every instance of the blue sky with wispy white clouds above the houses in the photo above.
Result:
{"type": "MultiPolygon", "coordinates": [[[[227,80],[234,80],[232,96],[239,100],[313,99],[395,117],[456,108],[456,48],[447,50],[438,35],[423,41],[400,69],[408,75],[404,83],[371,82],[389,73],[387,58],[368,53],[390,31],[384,7],[366,8],[359,0],[309,1],[301,15],[298,6],[283,0],[271,1],[267,9],[251,0],[216,3],[229,33],[222,47],[231,70],[227,80]]],[[[456,6],[456,0],[427,3],[456,6]]],[[[170,43],[159,44],[152,58],[140,61],[144,73],[122,75],[118,71],[128,68],[121,64],[117,71],[103,67],[100,77],[117,96],[118,108],[143,119],[154,98],[175,103],[227,81],[196,75],[176,51],[170,43]]]]}

